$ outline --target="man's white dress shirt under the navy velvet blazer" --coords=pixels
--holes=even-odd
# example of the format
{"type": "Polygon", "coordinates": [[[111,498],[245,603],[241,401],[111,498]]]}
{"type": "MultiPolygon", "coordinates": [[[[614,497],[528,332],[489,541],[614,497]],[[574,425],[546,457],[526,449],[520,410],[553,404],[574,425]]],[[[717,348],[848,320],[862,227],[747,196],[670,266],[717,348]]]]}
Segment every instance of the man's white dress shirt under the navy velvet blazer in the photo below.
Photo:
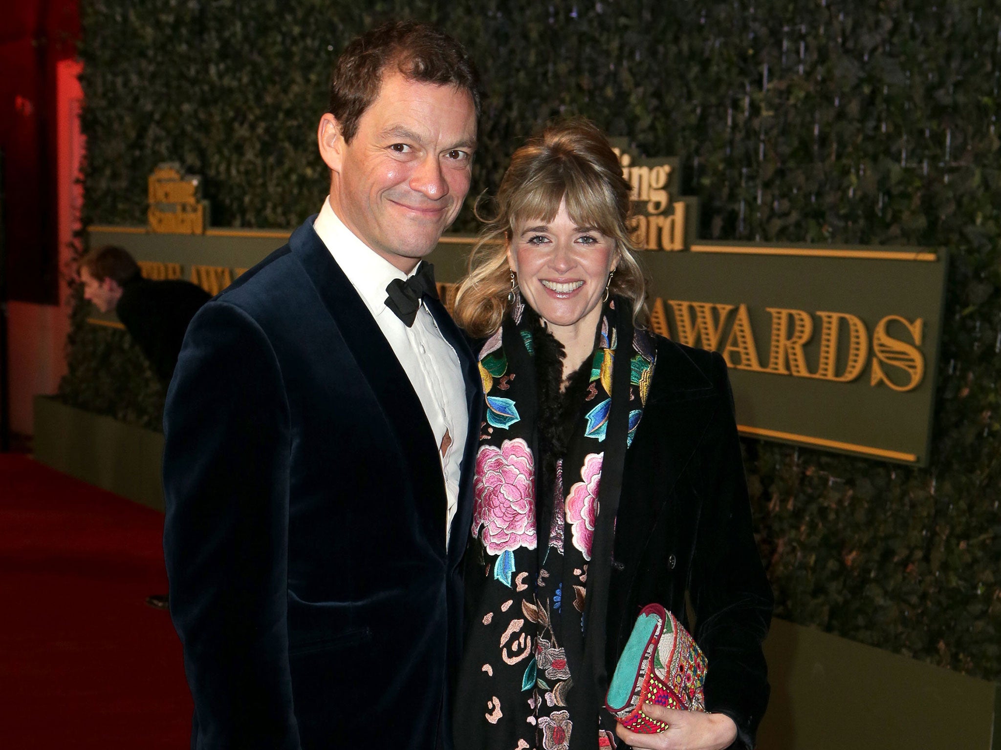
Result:
{"type": "MultiPolygon", "coordinates": [[[[458,477],[469,420],[458,356],[441,335],[434,316],[424,304],[420,305],[417,317],[409,328],[385,306],[385,288],[389,282],[393,279],[405,280],[408,276],[344,226],[330,207],[329,199],[323,201],[313,229],[372,314],[420,399],[434,433],[435,451],[441,459],[447,496],[444,519],[447,546],[451,519],[458,506],[458,477]],[[451,443],[442,456],[440,446],[446,431],[451,443]]],[[[419,264],[409,275],[415,274],[418,267],[419,264]]]]}

